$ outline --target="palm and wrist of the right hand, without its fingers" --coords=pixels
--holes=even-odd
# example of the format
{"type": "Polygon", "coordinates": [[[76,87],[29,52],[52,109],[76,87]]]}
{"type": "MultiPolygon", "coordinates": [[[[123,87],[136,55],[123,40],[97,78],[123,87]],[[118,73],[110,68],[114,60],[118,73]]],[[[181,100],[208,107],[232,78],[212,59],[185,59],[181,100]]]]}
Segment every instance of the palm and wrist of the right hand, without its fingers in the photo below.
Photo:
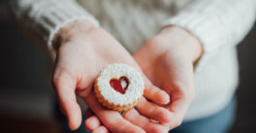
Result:
{"type": "Polygon", "coordinates": [[[172,117],[163,124],[169,130],[181,123],[194,98],[193,64],[201,55],[199,40],[175,26],[146,41],[134,55],[151,83],[170,94],[165,107],[172,117]]]}

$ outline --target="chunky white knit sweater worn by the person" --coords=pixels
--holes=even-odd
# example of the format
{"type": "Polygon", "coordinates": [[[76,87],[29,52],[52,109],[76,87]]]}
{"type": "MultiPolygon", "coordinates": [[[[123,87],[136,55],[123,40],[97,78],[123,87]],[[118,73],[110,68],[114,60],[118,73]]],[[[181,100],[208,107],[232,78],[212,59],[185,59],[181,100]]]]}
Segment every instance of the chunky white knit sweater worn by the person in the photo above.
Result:
{"type": "Polygon", "coordinates": [[[101,25],[131,53],[163,26],[187,29],[203,42],[204,55],[185,120],[212,115],[230,101],[239,81],[236,45],[256,15],[256,0],[16,0],[12,7],[49,49],[59,28],[76,19],[101,25]]]}

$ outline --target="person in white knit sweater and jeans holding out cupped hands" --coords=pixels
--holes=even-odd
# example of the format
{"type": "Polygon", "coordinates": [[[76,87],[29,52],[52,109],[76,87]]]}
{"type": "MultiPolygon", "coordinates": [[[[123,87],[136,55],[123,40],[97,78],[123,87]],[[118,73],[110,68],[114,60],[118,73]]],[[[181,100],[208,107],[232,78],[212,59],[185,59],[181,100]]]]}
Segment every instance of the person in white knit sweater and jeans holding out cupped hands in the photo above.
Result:
{"type": "Polygon", "coordinates": [[[254,24],[255,0],[13,0],[11,5],[27,35],[52,53],[53,86],[71,129],[223,133],[231,127],[239,79],[236,45],[254,24]],[[92,93],[99,70],[112,63],[144,75],[144,97],[123,115],[103,108],[92,93]],[[76,95],[89,108],[84,125],[76,95]]]}

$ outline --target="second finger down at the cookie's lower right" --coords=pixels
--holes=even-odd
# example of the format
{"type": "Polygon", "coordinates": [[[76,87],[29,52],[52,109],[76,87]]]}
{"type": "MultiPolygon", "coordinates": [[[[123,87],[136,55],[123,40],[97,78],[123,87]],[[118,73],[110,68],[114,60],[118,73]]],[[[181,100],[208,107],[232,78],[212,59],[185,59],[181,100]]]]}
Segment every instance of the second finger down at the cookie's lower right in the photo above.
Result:
{"type": "Polygon", "coordinates": [[[168,123],[171,121],[172,114],[167,109],[148,102],[144,97],[142,97],[136,109],[146,118],[157,120],[160,123],[168,123]]]}

